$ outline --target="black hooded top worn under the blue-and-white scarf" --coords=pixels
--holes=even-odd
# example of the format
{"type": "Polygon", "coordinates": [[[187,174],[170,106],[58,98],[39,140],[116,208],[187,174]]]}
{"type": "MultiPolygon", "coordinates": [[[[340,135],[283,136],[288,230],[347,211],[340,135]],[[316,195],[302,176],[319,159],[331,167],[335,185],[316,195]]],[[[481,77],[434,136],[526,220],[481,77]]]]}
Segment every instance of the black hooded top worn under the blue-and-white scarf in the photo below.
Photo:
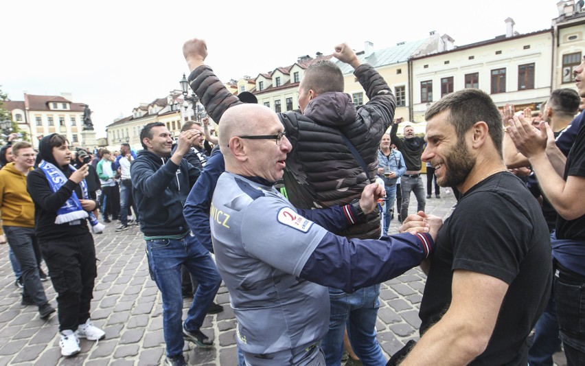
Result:
{"type": "MultiPolygon", "coordinates": [[[[38,144],[38,159],[45,160],[61,168],[61,171],[67,178],[71,176],[72,171],[65,167],[59,167],[53,157],[49,139],[56,134],[48,135],[41,139],[38,144]]],[[[57,211],[65,204],[67,199],[76,192],[78,198],[82,199],[81,187],[78,183],[68,179],[57,192],[51,190],[47,176],[41,168],[36,168],[27,175],[27,190],[34,202],[34,231],[39,242],[49,240],[71,240],[86,234],[88,231],[87,220],[78,220],[77,225],[56,224],[57,211]]]]}

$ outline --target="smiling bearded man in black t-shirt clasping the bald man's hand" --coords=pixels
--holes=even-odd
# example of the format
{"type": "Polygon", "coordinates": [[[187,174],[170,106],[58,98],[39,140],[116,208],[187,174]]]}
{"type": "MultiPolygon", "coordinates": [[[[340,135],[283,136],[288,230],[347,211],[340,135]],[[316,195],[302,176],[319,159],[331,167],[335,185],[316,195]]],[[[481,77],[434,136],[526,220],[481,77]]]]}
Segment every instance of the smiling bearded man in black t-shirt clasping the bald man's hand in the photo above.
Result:
{"type": "MultiPolygon", "coordinates": [[[[461,198],[437,236],[420,306],[422,337],[401,365],[527,365],[526,339],[552,281],[547,224],[506,170],[502,119],[488,94],[451,93],[425,117],[422,160],[461,198]]],[[[401,230],[417,220],[409,216],[401,230]]]]}

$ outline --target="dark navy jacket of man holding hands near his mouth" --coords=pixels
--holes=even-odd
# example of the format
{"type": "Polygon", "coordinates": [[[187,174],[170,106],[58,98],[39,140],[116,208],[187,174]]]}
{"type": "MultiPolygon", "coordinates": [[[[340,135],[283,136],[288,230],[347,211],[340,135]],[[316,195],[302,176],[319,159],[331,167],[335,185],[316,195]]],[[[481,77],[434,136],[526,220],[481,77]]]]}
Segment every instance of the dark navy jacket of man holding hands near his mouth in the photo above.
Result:
{"type": "Polygon", "coordinates": [[[199,170],[181,160],[176,165],[148,150],[140,150],[130,165],[132,195],[140,212],[144,236],[173,237],[189,231],[183,218],[183,205],[199,170]]]}

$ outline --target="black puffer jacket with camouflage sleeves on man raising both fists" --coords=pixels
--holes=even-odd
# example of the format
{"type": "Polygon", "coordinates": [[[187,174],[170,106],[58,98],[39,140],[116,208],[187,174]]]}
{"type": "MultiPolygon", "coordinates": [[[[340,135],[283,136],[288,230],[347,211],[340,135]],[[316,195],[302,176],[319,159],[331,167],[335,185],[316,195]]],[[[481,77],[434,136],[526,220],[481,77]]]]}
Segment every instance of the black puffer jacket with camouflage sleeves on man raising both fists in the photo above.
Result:
{"type": "MultiPolygon", "coordinates": [[[[359,198],[365,185],[376,179],[378,146],[393,119],[395,98],[384,78],[370,65],[360,65],[354,75],[365,89],[367,104],[356,109],[346,93],[323,93],[311,100],[304,115],[295,111],[278,113],[293,147],[286,159],[284,185],[296,207],[345,205],[359,198]],[[362,157],[371,181],[342,135],[362,157]]],[[[227,108],[241,103],[207,65],[196,68],[189,80],[216,122],[227,108]]],[[[342,235],[378,238],[378,215],[369,215],[367,222],[348,227],[342,235]]]]}

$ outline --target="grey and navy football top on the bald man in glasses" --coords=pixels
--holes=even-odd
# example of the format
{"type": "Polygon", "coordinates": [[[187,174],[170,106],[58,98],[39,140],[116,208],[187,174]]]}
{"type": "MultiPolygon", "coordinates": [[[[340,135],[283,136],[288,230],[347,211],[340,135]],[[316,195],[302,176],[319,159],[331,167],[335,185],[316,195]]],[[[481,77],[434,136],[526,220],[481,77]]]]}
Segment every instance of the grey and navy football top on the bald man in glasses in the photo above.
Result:
{"type": "Polygon", "coordinates": [[[428,233],[337,236],[356,220],[352,205],[296,209],[265,179],[229,172],[218,179],[210,214],[238,345],[252,354],[321,341],[330,315],[324,286],[353,292],[384,282],[420,264],[434,247],[428,233]]]}

